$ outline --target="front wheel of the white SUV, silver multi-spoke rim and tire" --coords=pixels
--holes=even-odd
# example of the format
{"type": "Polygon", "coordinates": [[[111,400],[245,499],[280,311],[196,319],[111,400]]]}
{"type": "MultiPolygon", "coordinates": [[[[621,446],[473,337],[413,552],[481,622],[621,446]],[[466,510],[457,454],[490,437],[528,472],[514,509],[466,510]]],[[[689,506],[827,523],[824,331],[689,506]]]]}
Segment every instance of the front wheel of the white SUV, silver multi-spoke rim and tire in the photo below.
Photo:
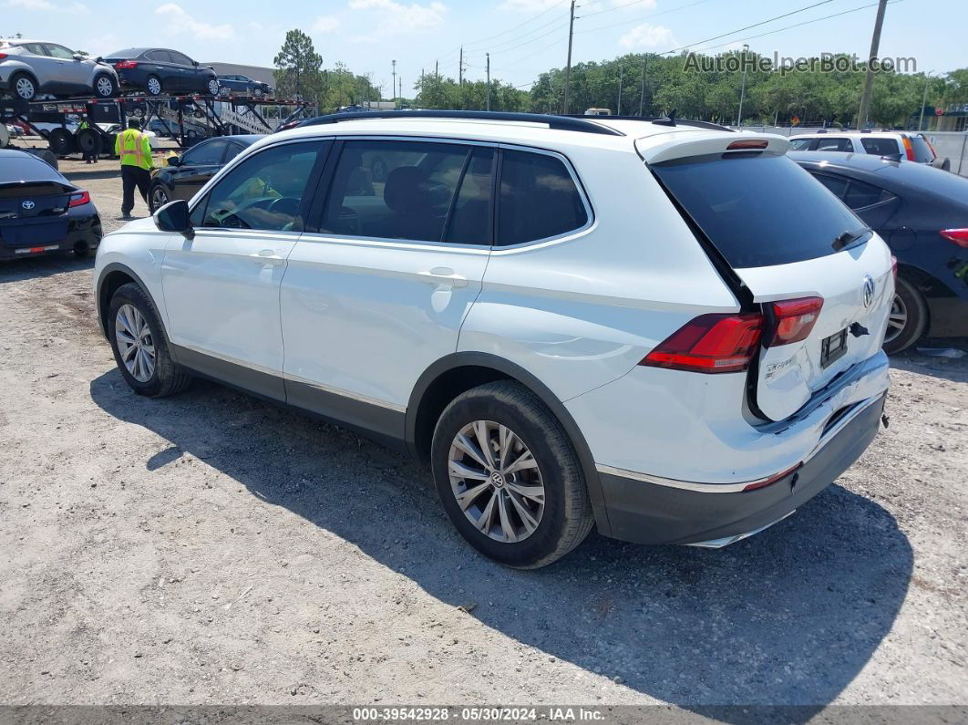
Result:
{"type": "Polygon", "coordinates": [[[192,381],[171,360],[158,312],[136,284],[118,287],[111,297],[107,336],[122,378],[138,395],[164,398],[192,381]]]}

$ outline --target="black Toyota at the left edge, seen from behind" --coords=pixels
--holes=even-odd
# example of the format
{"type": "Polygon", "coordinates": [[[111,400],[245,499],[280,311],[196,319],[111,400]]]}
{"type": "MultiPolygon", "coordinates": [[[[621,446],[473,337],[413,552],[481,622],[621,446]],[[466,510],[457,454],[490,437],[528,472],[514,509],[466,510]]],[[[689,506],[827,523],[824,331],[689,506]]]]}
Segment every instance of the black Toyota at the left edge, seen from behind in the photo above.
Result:
{"type": "Polygon", "coordinates": [[[91,196],[38,157],[0,149],[0,258],[92,257],[101,217],[91,196]]]}

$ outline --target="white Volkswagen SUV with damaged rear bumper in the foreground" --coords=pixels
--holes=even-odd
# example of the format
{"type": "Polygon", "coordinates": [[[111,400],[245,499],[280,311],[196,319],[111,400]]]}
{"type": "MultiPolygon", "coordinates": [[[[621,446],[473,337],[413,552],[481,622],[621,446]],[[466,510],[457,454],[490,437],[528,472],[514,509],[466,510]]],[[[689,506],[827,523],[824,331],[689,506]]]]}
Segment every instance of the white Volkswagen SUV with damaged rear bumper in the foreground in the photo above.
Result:
{"type": "Polygon", "coordinates": [[[98,314],[136,393],[215,378],[407,450],[506,564],[721,546],[849,467],[888,388],[891,255],[787,145],[322,117],[107,235],[98,314]]]}

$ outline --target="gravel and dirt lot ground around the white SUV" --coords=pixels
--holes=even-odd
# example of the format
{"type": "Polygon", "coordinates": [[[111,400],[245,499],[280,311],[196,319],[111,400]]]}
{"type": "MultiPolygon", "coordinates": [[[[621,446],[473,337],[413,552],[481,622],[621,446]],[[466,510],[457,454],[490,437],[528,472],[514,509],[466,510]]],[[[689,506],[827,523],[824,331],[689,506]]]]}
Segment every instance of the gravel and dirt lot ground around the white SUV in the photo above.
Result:
{"type": "MultiPolygon", "coordinates": [[[[117,227],[114,164],[62,168],[117,227]]],[[[758,536],[516,572],[376,444],[133,395],[91,267],[0,266],[0,703],[968,701],[968,358],[896,359],[891,427],[758,536]]]]}

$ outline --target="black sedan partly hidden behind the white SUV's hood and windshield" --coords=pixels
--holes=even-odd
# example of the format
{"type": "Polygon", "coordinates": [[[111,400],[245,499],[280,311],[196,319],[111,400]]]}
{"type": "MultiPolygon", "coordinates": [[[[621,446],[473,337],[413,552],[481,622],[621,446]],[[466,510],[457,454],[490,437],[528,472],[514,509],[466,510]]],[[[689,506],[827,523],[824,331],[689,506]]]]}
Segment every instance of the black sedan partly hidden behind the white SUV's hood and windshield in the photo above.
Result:
{"type": "Polygon", "coordinates": [[[195,196],[215,172],[249,148],[262,136],[218,136],[197,143],[181,156],[172,156],[167,166],[156,168],[151,176],[151,210],[168,201],[195,196]]]}

